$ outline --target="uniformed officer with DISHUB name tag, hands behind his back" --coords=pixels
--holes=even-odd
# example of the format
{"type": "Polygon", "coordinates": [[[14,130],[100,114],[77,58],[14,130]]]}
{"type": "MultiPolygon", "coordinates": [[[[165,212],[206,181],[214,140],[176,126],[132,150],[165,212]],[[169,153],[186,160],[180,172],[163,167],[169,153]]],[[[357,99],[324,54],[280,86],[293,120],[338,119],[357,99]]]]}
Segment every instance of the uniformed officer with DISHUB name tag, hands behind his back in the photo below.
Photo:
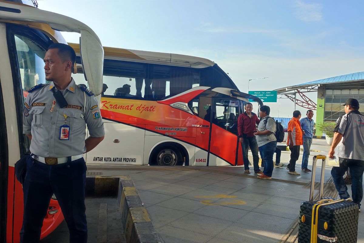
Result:
{"type": "Polygon", "coordinates": [[[66,44],[51,44],[44,57],[46,80],[29,90],[23,133],[31,139],[31,157],[23,185],[21,242],[39,242],[51,196],[62,209],[70,242],[87,242],[84,204],[86,153],[104,138],[98,102],[71,77],[76,54],[66,44]],[[86,124],[90,137],[86,137],[86,124]]]}

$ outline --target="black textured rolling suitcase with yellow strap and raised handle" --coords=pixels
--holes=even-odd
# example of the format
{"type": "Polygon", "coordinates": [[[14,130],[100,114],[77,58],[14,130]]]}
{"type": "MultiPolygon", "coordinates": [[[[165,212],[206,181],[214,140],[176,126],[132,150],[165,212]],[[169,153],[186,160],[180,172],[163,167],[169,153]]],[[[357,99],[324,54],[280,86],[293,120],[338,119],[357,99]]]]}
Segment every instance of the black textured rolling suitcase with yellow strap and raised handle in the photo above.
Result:
{"type": "Polygon", "coordinates": [[[298,243],[356,243],[359,207],[343,199],[322,198],[324,155],[313,157],[310,200],[301,203],[298,243]],[[316,161],[322,159],[319,200],[313,201],[316,161]]]}

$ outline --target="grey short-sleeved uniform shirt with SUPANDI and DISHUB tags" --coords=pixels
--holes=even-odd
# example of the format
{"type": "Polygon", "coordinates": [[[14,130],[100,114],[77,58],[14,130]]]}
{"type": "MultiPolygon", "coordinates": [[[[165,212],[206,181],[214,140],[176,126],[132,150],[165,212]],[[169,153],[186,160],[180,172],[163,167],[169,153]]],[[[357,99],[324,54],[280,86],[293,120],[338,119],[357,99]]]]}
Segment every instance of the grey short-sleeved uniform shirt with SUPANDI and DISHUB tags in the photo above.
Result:
{"type": "Polygon", "coordinates": [[[105,134],[96,98],[81,90],[72,78],[63,92],[68,105],[60,108],[53,96],[53,87],[53,82],[42,85],[29,92],[25,99],[23,133],[32,135],[30,152],[53,158],[83,154],[86,152],[86,124],[91,137],[105,134]],[[65,122],[70,126],[69,140],[60,140],[60,127],[65,122]]]}

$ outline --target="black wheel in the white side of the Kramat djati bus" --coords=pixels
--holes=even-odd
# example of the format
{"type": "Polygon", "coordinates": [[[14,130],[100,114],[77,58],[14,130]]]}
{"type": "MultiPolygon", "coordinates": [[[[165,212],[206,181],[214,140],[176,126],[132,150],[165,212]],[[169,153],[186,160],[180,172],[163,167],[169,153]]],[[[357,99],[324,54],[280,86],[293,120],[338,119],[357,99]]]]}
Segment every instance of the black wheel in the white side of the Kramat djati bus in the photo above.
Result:
{"type": "Polygon", "coordinates": [[[158,145],[151,154],[150,165],[174,166],[183,165],[184,152],[178,145],[165,143],[158,145]]]}

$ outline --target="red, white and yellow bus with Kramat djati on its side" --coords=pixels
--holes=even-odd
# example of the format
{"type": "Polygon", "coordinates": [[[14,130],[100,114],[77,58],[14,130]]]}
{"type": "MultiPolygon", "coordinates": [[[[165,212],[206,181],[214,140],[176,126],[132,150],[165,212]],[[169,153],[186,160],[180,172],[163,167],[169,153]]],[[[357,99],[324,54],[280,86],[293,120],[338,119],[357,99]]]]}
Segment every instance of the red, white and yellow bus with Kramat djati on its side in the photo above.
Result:
{"type": "MultiPolygon", "coordinates": [[[[78,45],[71,44],[76,53],[78,45]]],[[[105,138],[88,165],[242,165],[237,117],[248,98],[217,64],[104,47],[105,138]]],[[[79,62],[80,63],[80,62],[79,62]]],[[[82,71],[82,69],[80,70],[82,71]]],[[[74,76],[82,82],[82,74],[74,76]]]]}

